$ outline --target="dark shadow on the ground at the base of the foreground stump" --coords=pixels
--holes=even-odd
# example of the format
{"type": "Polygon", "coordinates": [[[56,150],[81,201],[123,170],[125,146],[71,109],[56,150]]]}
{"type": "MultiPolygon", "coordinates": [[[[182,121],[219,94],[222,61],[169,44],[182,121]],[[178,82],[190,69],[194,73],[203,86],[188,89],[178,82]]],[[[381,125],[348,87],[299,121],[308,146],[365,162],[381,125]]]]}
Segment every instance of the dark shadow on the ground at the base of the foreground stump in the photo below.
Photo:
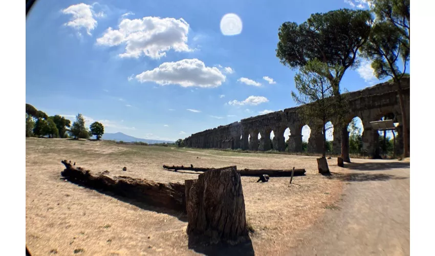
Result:
{"type": "Polygon", "coordinates": [[[188,248],[195,252],[202,253],[208,256],[214,255],[228,255],[228,256],[242,256],[242,255],[255,255],[254,247],[249,236],[245,237],[245,242],[237,245],[230,245],[226,243],[210,244],[208,240],[202,236],[189,235],[188,248]]]}

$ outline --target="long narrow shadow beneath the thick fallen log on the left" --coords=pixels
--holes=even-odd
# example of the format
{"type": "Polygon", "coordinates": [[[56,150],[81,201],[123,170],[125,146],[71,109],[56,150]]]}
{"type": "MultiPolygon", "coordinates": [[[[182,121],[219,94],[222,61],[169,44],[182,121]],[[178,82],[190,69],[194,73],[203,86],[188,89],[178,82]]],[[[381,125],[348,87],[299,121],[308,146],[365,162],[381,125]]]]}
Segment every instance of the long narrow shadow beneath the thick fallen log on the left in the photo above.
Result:
{"type": "MultiPolygon", "coordinates": [[[[67,179],[61,177],[60,180],[67,180],[67,179]]],[[[101,194],[113,197],[113,198],[115,198],[115,199],[117,199],[119,201],[122,201],[122,202],[127,203],[127,204],[134,205],[134,206],[139,207],[141,209],[149,210],[149,211],[155,211],[155,212],[158,212],[160,214],[167,214],[167,215],[170,215],[170,216],[173,216],[173,217],[177,217],[177,219],[179,219],[180,221],[188,222],[187,215],[184,212],[176,211],[176,210],[171,210],[171,209],[167,209],[167,208],[164,208],[164,207],[157,207],[157,206],[148,205],[148,204],[145,204],[143,202],[139,202],[138,200],[134,200],[134,199],[130,199],[130,198],[126,198],[126,197],[117,195],[117,194],[113,193],[112,191],[108,191],[108,190],[104,190],[104,189],[97,189],[97,188],[92,188],[92,187],[89,187],[89,186],[85,186],[85,185],[81,184],[80,182],[76,182],[74,180],[68,180],[68,181],[73,183],[73,184],[76,184],[76,185],[78,185],[80,187],[84,187],[84,188],[87,188],[89,190],[95,190],[95,191],[97,191],[97,192],[99,192],[101,194]]]]}

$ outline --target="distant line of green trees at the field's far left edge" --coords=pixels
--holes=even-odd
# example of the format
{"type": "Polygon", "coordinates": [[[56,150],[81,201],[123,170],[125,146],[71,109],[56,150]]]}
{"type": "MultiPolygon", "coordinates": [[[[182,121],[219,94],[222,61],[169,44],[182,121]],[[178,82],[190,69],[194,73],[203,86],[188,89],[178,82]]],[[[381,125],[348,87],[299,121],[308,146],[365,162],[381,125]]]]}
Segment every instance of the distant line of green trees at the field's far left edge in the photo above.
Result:
{"type": "Polygon", "coordinates": [[[99,140],[103,134],[102,123],[93,122],[88,129],[82,114],[78,114],[76,121],[71,124],[71,121],[63,116],[48,116],[26,103],[26,137],[89,139],[94,135],[99,140]]]}

